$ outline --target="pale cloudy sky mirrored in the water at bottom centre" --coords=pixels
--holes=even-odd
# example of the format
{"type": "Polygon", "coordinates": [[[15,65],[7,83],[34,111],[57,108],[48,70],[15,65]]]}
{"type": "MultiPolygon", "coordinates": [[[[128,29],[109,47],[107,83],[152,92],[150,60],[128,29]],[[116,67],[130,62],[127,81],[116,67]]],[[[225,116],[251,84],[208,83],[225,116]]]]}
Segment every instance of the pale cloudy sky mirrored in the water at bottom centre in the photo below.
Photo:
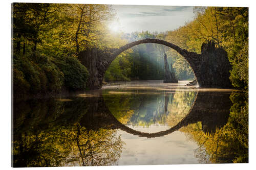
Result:
{"type": "MultiPolygon", "coordinates": [[[[169,129],[167,126],[132,127],[141,132],[160,132],[169,129]]],[[[182,131],[175,131],[164,137],[144,138],[117,131],[121,135],[123,145],[118,165],[150,165],[150,164],[195,164],[194,156],[199,147],[193,140],[188,140],[182,131]]],[[[137,168],[136,168],[137,169],[137,168]]],[[[154,169],[154,168],[152,168],[154,169]]]]}

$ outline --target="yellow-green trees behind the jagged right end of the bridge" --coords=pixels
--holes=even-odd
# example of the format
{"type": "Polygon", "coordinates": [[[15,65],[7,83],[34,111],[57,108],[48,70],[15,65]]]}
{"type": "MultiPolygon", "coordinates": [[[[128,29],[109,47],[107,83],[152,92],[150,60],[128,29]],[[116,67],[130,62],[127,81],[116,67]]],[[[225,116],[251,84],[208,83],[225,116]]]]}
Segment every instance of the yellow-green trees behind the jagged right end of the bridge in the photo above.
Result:
{"type": "MultiPolygon", "coordinates": [[[[228,54],[232,65],[230,80],[233,86],[247,89],[248,8],[195,7],[194,13],[193,21],[177,30],[169,31],[165,39],[196,53],[201,53],[201,45],[206,39],[214,40],[228,54]]],[[[182,68],[187,69],[188,64],[179,59],[174,63],[174,68],[179,76],[182,68]]],[[[186,72],[192,74],[191,69],[186,72]]]]}

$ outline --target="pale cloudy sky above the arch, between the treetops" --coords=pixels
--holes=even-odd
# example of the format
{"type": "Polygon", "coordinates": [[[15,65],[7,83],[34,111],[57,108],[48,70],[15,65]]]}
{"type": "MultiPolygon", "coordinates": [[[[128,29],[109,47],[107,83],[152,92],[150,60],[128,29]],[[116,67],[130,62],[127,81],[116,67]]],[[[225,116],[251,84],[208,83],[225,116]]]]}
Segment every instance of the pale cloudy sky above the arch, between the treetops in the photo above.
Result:
{"type": "Polygon", "coordinates": [[[112,5],[116,20],[110,25],[115,32],[165,32],[184,26],[193,20],[193,7],[112,5]]]}

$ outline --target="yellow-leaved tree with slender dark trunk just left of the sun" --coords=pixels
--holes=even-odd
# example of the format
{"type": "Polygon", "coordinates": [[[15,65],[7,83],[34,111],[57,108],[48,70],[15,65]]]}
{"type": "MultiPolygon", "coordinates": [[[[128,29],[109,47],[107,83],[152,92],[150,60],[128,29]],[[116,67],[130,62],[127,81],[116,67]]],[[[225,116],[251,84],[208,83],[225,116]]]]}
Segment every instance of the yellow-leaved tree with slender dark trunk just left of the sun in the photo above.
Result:
{"type": "Polygon", "coordinates": [[[114,13],[109,5],[72,4],[66,7],[65,14],[69,18],[66,34],[78,54],[81,50],[97,45],[107,34],[106,24],[114,13]]]}

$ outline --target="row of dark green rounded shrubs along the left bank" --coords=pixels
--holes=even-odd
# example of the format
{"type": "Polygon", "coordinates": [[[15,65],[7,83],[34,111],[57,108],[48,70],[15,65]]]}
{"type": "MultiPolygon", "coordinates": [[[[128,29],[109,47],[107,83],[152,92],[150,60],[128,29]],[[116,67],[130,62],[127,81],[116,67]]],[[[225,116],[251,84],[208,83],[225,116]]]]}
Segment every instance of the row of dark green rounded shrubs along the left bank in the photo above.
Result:
{"type": "Polygon", "coordinates": [[[74,57],[50,58],[37,52],[13,57],[14,95],[84,89],[89,72],[74,57]]]}

